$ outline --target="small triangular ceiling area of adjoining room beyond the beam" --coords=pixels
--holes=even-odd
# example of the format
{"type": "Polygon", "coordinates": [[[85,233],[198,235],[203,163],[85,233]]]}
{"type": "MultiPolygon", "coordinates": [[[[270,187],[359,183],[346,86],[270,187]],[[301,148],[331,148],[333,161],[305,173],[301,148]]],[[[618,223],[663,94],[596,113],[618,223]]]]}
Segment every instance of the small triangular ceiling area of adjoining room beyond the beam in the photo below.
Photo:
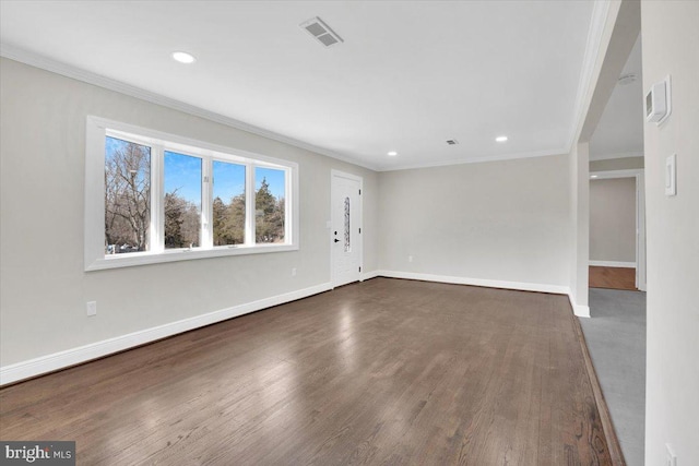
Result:
{"type": "Polygon", "coordinates": [[[617,84],[590,140],[590,159],[640,157],[643,155],[643,73],[641,36],[624,65],[621,76],[636,74],[627,85],[617,84]]]}

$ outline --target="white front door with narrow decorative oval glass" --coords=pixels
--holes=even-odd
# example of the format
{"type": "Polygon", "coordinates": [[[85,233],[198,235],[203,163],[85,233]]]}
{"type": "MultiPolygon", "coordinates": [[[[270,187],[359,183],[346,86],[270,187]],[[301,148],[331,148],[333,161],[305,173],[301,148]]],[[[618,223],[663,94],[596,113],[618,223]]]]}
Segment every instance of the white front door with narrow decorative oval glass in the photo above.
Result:
{"type": "Polygon", "coordinates": [[[331,172],[331,275],[332,286],[362,277],[362,187],[355,175],[331,172]]]}

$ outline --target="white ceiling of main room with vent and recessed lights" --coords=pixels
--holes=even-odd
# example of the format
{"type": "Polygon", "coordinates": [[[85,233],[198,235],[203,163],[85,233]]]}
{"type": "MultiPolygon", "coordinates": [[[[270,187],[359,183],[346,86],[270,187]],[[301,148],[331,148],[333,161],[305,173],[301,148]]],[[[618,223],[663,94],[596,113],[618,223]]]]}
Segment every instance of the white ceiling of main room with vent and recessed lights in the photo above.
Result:
{"type": "Polygon", "coordinates": [[[2,1],[0,34],[15,58],[393,169],[567,152],[593,3],[2,1]],[[312,16],[344,44],[324,48],[299,27],[312,16]],[[176,63],[174,50],[198,60],[176,63]]]}

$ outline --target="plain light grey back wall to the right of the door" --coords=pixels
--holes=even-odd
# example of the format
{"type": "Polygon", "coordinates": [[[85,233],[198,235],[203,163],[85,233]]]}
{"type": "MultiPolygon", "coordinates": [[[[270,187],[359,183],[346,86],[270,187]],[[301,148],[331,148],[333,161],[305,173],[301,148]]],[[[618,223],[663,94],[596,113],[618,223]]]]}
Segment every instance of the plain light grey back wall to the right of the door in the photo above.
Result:
{"type": "Polygon", "coordinates": [[[381,172],[379,268],[567,289],[567,170],[558,155],[381,172]]]}

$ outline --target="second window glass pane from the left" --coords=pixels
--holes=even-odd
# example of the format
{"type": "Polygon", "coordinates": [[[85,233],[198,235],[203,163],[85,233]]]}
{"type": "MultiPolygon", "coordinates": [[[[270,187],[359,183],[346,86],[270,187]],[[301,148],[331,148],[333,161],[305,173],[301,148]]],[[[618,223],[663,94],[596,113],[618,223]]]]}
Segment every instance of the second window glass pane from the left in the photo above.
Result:
{"type": "Polygon", "coordinates": [[[201,169],[199,157],[165,152],[165,249],[200,244],[201,169]]]}

